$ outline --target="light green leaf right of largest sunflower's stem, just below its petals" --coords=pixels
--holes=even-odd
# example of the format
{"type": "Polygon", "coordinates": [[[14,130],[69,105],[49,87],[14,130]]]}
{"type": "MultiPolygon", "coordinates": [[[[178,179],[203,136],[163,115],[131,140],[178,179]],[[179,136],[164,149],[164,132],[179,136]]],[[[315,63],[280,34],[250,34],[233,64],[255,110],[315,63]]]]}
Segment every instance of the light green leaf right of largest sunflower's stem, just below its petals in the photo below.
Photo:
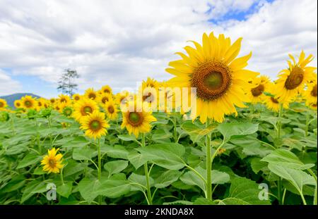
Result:
{"type": "Polygon", "coordinates": [[[217,129],[223,134],[225,141],[228,141],[232,136],[247,135],[257,132],[259,124],[254,123],[222,123],[217,129]]]}

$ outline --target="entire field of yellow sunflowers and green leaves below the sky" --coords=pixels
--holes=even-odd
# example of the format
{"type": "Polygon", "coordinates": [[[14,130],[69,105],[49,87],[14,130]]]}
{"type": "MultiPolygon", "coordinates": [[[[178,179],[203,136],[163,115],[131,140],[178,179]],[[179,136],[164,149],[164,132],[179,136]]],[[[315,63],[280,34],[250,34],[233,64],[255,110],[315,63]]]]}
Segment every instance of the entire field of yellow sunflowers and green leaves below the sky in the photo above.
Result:
{"type": "Polygon", "coordinates": [[[313,56],[271,81],[241,43],[205,33],[136,92],[0,99],[0,204],[317,205],[313,56]]]}

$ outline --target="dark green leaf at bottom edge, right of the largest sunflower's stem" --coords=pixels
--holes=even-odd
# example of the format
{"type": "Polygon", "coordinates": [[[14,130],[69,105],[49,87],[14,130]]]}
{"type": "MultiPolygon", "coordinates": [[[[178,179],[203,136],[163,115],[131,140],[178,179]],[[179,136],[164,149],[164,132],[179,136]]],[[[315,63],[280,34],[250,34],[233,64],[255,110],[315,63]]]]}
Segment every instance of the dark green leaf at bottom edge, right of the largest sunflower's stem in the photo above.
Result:
{"type": "Polygon", "coordinates": [[[240,199],[248,204],[271,204],[268,200],[260,200],[259,192],[261,192],[261,189],[256,182],[247,178],[236,177],[232,179],[228,198],[240,199]]]}

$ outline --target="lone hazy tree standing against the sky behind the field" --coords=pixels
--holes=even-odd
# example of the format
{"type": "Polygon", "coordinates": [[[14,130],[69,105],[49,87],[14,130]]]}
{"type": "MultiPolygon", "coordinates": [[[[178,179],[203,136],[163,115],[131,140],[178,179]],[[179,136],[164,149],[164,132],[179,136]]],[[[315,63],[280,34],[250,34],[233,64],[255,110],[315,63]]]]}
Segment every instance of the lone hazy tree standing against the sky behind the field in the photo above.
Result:
{"type": "Polygon", "coordinates": [[[78,77],[79,75],[76,70],[67,68],[65,73],[61,75],[61,78],[59,79],[59,86],[57,87],[57,90],[61,91],[63,94],[72,96],[78,86],[74,80],[78,77]]]}

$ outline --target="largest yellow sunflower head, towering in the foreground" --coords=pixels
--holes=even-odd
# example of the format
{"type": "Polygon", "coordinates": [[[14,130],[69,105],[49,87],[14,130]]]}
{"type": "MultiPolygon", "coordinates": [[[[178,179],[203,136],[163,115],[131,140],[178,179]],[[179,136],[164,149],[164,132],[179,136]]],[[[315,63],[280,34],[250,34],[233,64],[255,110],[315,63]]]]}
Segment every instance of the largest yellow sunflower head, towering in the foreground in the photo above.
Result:
{"type": "MultiPolygon", "coordinates": [[[[207,118],[224,120],[224,115],[235,113],[235,106],[245,107],[249,99],[243,89],[251,87],[249,80],[259,75],[245,70],[252,53],[236,58],[240,52],[242,38],[233,44],[224,35],[215,37],[213,32],[203,35],[203,45],[194,42],[193,48],[185,46],[187,55],[177,53],[180,60],[172,61],[166,71],[175,75],[169,83],[173,87],[196,88],[196,111],[192,119],[200,116],[201,123],[207,118]]],[[[189,94],[190,95],[190,94],[189,94]]]]}

